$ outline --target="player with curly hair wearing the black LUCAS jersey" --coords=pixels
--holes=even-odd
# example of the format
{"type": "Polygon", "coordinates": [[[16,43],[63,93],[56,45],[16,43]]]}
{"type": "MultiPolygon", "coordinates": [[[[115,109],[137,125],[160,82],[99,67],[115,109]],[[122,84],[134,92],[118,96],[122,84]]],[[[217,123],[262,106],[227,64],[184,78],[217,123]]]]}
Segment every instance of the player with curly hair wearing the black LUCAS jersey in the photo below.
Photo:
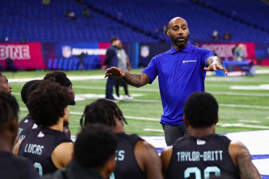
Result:
{"type": "Polygon", "coordinates": [[[28,96],[26,104],[38,127],[18,143],[18,153],[33,161],[40,176],[66,166],[72,159],[74,145],[63,133],[72,94],[59,83],[42,80],[28,96]]]}

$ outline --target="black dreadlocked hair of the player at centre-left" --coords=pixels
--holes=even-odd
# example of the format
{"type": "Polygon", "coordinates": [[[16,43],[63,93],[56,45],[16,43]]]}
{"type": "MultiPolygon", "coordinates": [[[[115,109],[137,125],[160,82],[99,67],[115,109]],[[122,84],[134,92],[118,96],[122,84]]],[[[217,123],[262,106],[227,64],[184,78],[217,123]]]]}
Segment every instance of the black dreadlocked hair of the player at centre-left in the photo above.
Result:
{"type": "Polygon", "coordinates": [[[84,116],[84,126],[93,123],[104,123],[108,126],[116,126],[114,115],[116,115],[119,120],[123,120],[125,124],[128,124],[121,110],[113,101],[98,99],[85,107],[80,119],[80,126],[83,127],[84,116]]]}

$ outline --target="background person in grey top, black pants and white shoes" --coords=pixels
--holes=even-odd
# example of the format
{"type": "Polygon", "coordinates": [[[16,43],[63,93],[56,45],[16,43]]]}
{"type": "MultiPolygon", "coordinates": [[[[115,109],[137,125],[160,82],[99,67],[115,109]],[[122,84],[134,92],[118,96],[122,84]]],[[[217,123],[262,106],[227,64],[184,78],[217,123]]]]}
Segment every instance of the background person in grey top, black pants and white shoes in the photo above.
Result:
{"type": "MultiPolygon", "coordinates": [[[[131,64],[128,58],[128,55],[126,54],[125,50],[122,48],[122,43],[119,42],[117,45],[117,56],[118,56],[118,67],[130,71],[131,70],[131,64]]],[[[133,100],[133,97],[129,95],[128,93],[128,85],[125,83],[121,78],[116,79],[115,83],[115,89],[116,89],[116,100],[133,100]],[[123,86],[125,96],[123,98],[119,95],[119,86],[123,86]]]]}

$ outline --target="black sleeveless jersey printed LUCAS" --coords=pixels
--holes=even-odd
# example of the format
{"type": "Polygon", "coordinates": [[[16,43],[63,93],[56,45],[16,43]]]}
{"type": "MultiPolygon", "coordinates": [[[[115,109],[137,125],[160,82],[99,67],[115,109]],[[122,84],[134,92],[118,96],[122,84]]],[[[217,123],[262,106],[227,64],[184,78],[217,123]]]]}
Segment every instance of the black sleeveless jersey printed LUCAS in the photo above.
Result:
{"type": "Polygon", "coordinates": [[[51,153],[63,142],[72,142],[72,140],[59,130],[38,127],[24,138],[20,144],[19,155],[30,159],[42,176],[57,170],[51,160],[51,153]]]}

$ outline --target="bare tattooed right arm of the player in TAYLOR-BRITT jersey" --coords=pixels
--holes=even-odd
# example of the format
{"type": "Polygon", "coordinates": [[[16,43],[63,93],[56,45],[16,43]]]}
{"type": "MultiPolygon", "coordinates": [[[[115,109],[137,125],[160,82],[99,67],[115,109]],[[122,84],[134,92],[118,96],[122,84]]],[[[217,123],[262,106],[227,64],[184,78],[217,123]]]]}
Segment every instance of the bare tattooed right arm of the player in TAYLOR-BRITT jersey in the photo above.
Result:
{"type": "Polygon", "coordinates": [[[229,154],[235,166],[239,169],[242,179],[260,179],[261,176],[257,168],[251,161],[251,155],[244,144],[239,141],[231,141],[229,145],[229,154]]]}

